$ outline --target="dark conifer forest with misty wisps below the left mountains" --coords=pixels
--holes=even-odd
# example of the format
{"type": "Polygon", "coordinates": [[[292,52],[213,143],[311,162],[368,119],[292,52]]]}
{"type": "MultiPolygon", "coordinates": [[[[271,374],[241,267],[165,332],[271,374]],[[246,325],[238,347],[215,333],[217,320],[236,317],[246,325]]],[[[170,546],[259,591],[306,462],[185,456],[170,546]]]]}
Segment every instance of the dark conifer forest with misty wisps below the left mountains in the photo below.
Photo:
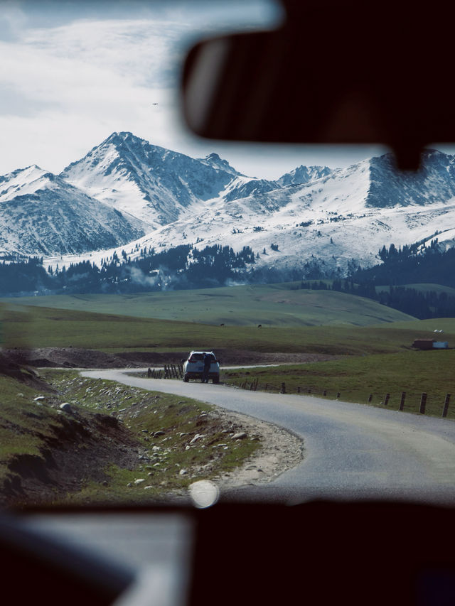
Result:
{"type": "Polygon", "coordinates": [[[166,251],[141,249],[136,259],[125,251],[120,257],[102,259],[100,266],[88,260],[68,267],[43,267],[42,257],[0,264],[0,295],[50,293],[125,293],[166,288],[205,288],[238,280],[255,264],[251,247],[235,252],[215,244],[198,249],[183,244],[166,251]]]}

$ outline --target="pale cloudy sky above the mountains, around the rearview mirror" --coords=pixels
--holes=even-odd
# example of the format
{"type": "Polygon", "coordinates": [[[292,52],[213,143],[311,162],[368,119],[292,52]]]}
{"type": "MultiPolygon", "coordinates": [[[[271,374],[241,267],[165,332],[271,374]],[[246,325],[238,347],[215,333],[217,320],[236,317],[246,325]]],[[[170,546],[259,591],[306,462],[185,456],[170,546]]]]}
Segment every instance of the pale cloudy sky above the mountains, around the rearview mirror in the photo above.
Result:
{"type": "Polygon", "coordinates": [[[188,132],[177,91],[191,43],[279,19],[271,0],[0,0],[0,175],[31,164],[59,173],[114,131],[193,157],[216,152],[259,178],[385,153],[223,144],[188,132]]]}

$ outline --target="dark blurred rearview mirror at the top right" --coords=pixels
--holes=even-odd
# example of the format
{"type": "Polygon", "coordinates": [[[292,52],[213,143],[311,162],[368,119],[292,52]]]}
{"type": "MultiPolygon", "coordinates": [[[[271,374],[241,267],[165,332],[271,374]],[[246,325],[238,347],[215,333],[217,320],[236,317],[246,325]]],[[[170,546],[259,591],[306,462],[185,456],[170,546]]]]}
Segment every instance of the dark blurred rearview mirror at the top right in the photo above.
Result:
{"type": "Polygon", "coordinates": [[[284,4],[287,21],[275,31],[193,47],[182,82],[191,130],[235,141],[385,144],[400,168],[417,168],[427,144],[455,141],[443,85],[452,56],[445,8],[284,4]]]}

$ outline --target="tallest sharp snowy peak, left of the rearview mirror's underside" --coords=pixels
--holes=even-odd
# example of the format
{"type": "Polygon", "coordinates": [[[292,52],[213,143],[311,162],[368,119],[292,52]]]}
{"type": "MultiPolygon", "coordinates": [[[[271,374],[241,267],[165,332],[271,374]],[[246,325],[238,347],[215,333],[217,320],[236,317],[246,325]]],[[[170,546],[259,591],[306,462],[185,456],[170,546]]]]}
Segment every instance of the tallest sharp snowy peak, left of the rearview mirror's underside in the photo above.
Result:
{"type": "Polygon", "coordinates": [[[113,133],[61,176],[154,229],[175,221],[192,203],[214,198],[230,183],[236,171],[215,156],[199,161],[131,133],[113,133]]]}

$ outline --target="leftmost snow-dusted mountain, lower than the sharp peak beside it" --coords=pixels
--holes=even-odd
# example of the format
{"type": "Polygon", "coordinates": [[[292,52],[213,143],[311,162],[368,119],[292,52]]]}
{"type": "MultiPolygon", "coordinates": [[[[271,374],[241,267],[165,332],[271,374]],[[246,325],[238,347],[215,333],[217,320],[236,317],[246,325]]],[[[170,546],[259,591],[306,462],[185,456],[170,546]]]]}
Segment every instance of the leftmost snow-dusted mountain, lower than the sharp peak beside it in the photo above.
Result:
{"type": "Polygon", "coordinates": [[[144,234],[122,215],[38,166],[0,177],[0,251],[62,255],[116,247],[144,234]]]}

